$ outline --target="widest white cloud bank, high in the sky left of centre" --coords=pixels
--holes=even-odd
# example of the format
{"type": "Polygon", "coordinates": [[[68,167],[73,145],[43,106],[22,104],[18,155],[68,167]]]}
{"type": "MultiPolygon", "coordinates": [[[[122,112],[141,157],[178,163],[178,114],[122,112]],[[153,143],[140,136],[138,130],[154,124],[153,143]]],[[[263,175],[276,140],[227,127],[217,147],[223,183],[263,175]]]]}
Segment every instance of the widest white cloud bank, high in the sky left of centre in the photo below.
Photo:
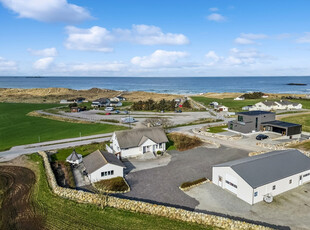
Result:
{"type": "Polygon", "coordinates": [[[112,52],[116,42],[131,42],[141,45],[184,45],[189,40],[183,34],[163,33],[159,27],[149,25],[133,25],[129,29],[113,29],[93,26],[80,29],[66,27],[68,38],[67,49],[112,52]]]}

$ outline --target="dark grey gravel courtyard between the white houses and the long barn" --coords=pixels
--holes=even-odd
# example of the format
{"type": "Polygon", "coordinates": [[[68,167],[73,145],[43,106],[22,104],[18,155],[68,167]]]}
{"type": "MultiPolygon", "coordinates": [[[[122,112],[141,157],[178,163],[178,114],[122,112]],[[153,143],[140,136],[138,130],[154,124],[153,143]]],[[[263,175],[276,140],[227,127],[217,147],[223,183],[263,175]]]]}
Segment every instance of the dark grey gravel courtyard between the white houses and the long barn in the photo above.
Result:
{"type": "Polygon", "coordinates": [[[169,154],[171,161],[166,166],[126,175],[131,191],[124,196],[194,209],[199,202],[178,188],[183,182],[210,179],[212,165],[248,156],[247,151],[223,146],[169,151],[169,154]]]}

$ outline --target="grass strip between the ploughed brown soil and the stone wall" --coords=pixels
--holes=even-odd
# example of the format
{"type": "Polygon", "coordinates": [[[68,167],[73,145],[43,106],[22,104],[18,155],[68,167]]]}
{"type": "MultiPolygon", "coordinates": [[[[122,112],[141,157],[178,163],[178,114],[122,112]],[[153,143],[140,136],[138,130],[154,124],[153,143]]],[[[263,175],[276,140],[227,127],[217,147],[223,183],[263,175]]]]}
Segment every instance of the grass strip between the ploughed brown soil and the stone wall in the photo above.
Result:
{"type": "Polygon", "coordinates": [[[63,199],[52,193],[46,179],[42,158],[29,156],[36,163],[36,184],[32,192],[35,211],[44,217],[46,229],[213,229],[198,224],[171,220],[164,217],[134,213],[120,209],[81,204],[63,199]]]}

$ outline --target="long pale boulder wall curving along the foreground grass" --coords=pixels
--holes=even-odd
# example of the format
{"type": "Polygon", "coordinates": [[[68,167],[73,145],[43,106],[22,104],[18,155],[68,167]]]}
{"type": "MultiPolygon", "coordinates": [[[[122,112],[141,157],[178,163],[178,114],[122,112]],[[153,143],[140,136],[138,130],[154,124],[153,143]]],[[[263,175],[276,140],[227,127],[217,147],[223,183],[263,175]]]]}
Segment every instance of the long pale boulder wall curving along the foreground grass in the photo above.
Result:
{"type": "Polygon", "coordinates": [[[206,226],[211,225],[223,229],[257,229],[257,230],[270,229],[260,225],[249,224],[246,222],[231,220],[229,218],[215,215],[191,212],[180,208],[167,207],[164,205],[156,205],[142,201],[134,201],[102,194],[93,194],[83,191],[77,191],[74,189],[62,188],[57,185],[55,176],[52,172],[50,162],[46,153],[41,151],[39,152],[39,154],[43,158],[47,179],[52,191],[55,194],[67,199],[75,200],[80,203],[96,204],[102,207],[109,206],[133,212],[163,216],[175,220],[193,222],[206,226]]]}

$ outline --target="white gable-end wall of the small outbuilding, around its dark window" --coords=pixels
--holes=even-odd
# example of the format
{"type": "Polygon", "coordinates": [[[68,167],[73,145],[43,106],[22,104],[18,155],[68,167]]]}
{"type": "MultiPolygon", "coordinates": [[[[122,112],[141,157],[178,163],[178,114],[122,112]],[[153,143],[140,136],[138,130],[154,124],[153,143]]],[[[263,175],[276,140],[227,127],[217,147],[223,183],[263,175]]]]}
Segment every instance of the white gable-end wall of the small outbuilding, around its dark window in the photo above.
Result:
{"type": "Polygon", "coordinates": [[[113,165],[113,164],[106,164],[100,169],[96,170],[95,172],[88,174],[88,178],[92,183],[100,181],[100,180],[106,180],[106,179],[111,179],[115,177],[123,177],[124,176],[124,168],[118,165],[113,165]],[[101,176],[101,172],[107,172],[114,170],[113,175],[109,176],[101,176]]]}

